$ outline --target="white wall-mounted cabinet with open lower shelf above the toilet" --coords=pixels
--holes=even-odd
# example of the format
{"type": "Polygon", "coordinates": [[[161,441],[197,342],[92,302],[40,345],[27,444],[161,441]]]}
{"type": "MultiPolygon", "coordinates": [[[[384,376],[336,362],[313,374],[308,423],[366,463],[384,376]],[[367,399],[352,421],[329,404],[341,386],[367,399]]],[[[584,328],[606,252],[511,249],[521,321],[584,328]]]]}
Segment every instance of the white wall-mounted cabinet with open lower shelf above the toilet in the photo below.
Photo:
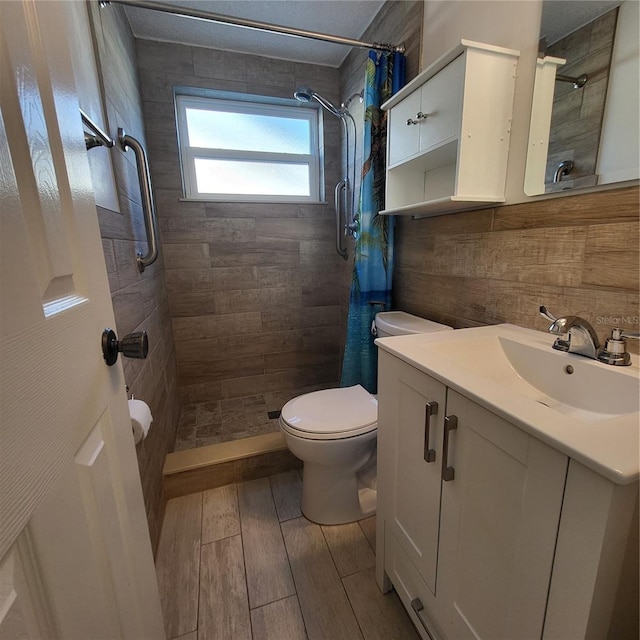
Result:
{"type": "Polygon", "coordinates": [[[388,100],[383,214],[504,202],[519,52],[469,40],[388,100]]]}

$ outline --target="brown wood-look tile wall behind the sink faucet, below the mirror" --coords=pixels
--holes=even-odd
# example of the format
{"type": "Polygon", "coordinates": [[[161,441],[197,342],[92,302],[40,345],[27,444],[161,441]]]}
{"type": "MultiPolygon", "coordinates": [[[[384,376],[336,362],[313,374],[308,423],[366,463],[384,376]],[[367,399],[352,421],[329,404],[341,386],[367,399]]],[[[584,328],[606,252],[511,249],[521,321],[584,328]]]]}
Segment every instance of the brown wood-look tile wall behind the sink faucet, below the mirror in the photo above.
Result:
{"type": "MultiPolygon", "coordinates": [[[[400,218],[394,304],[454,328],[538,315],[579,315],[601,339],[638,331],[638,187],[471,211],[400,218]]],[[[638,351],[637,342],[629,341],[638,351]]]]}

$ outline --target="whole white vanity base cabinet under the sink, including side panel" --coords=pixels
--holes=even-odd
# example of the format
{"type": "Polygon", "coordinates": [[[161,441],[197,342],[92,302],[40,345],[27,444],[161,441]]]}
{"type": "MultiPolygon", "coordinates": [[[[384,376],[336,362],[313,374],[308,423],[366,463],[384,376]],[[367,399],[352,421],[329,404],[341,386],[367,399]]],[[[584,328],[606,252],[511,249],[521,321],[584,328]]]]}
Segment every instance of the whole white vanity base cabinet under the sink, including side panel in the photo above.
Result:
{"type": "Polygon", "coordinates": [[[378,400],[376,576],[422,637],[606,638],[637,484],[382,349],[378,400]]]}

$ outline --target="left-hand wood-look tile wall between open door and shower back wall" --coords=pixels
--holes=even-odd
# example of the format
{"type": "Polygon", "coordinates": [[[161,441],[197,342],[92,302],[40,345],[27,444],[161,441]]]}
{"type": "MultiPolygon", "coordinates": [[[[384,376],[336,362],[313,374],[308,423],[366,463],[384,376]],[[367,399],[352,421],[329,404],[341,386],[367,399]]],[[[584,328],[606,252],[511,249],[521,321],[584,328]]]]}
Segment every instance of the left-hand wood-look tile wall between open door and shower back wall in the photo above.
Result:
{"type": "MultiPolygon", "coordinates": [[[[90,5],[98,64],[104,87],[109,134],[118,127],[143,144],[145,125],[136,70],[135,42],[120,7],[102,11],[90,5]]],[[[165,286],[162,252],[143,274],[138,272],[136,252],[146,253],[146,235],[140,204],[136,163],[131,151],[92,150],[109,153],[117,184],[119,211],[98,207],[104,256],[118,336],[147,331],[146,360],[122,359],[131,393],[151,407],[153,425],[136,446],[151,541],[155,551],[164,515],[162,469],[172,450],[180,413],[176,359],[171,316],[165,286]]],[[[114,198],[114,200],[116,200],[114,198]]]]}

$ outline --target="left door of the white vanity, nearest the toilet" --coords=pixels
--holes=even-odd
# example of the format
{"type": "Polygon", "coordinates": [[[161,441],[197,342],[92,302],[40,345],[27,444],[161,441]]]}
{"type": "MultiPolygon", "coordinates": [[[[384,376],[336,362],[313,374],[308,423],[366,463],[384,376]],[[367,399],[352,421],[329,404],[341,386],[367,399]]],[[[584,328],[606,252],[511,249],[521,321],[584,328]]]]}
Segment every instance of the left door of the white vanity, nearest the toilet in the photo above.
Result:
{"type": "MultiPolygon", "coordinates": [[[[435,593],[446,387],[408,364],[392,362],[394,371],[379,396],[378,451],[384,451],[379,464],[391,466],[385,520],[435,593]]],[[[378,486],[383,489],[382,481],[378,486]]]]}

